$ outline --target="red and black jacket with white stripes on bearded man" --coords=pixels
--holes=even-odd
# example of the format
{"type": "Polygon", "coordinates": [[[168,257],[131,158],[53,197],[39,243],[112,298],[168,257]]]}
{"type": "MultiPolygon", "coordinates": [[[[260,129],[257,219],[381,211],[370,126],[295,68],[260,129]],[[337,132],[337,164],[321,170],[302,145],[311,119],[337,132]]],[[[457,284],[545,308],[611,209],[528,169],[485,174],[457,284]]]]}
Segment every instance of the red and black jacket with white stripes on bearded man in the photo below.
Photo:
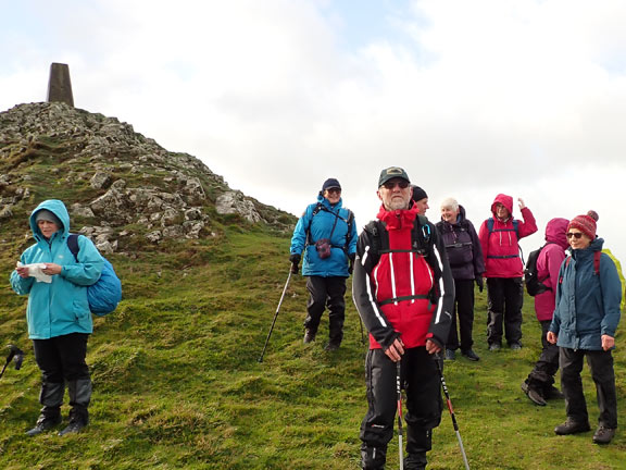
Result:
{"type": "MultiPolygon", "coordinates": [[[[354,304],[370,332],[370,348],[388,348],[401,336],[404,346],[424,346],[431,338],[443,346],[451,322],[454,280],[437,230],[426,222],[431,238],[427,252],[415,252],[414,209],[378,213],[388,237],[388,251],[375,253],[367,227],[356,245],[352,281],[354,304]]],[[[386,245],[386,244],[385,244],[386,245]]]]}

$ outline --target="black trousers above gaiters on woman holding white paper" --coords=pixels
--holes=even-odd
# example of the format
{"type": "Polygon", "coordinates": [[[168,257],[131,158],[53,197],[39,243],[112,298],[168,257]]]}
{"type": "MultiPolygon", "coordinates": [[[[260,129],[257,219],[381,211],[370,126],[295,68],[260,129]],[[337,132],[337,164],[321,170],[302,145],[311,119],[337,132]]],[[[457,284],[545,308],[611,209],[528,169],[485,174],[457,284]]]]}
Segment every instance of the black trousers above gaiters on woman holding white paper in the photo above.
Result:
{"type": "Polygon", "coordinates": [[[35,360],[43,382],[63,383],[89,379],[87,357],[88,334],[72,333],[50,339],[33,339],[35,360]]]}

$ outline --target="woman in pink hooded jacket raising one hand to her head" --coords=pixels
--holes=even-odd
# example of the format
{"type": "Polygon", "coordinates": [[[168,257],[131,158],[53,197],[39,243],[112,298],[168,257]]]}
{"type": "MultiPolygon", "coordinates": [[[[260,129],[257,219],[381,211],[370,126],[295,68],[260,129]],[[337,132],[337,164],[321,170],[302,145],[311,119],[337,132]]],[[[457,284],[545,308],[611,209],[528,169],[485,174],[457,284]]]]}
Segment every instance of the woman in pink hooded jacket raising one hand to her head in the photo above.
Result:
{"type": "Polygon", "coordinates": [[[489,299],[487,324],[489,350],[502,347],[502,322],[509,347],[522,348],[524,264],[519,258],[517,242],[537,232],[537,225],[530,209],[522,199],[517,200],[523,220],[513,219],[513,198],[499,194],[491,205],[493,217],[483,222],[478,232],[485,257],[484,276],[487,277],[489,299]]]}

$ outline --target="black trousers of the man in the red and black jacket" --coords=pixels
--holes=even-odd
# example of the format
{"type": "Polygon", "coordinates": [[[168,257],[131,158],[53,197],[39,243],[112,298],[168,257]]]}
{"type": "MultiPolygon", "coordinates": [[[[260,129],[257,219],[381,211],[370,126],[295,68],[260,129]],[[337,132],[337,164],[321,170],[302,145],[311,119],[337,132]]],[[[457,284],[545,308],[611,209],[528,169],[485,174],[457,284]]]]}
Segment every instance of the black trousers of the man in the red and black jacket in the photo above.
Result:
{"type": "MultiPolygon", "coordinates": [[[[426,463],[431,431],[441,421],[441,388],[435,357],[424,346],[402,356],[401,383],[406,391],[406,458],[426,463]]],[[[365,358],[367,413],[361,423],[361,455],[364,469],[385,466],[387,444],[393,437],[398,404],[396,362],[383,349],[370,349],[365,358]]]]}

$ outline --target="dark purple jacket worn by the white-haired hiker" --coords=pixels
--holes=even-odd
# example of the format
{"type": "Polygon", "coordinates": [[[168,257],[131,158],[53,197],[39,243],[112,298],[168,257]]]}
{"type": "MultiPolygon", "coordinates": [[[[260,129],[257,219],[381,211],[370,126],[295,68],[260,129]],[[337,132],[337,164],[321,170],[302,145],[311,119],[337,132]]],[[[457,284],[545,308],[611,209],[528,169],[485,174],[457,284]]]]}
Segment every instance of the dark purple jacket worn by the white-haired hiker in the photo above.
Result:
{"type": "Polygon", "coordinates": [[[483,248],[472,222],[465,219],[465,209],[459,206],[456,222],[437,222],[437,231],[446,246],[448,262],[455,280],[473,280],[483,276],[483,248]]]}

